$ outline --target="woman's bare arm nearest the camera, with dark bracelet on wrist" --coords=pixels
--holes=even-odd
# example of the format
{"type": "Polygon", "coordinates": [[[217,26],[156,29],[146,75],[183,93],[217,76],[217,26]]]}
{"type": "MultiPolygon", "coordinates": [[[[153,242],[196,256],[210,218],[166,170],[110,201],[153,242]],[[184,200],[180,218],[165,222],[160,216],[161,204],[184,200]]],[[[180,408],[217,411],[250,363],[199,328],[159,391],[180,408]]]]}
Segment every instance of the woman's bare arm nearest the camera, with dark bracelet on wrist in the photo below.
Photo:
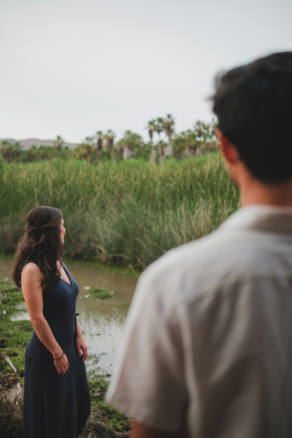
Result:
{"type": "MultiPolygon", "coordinates": [[[[35,329],[39,340],[56,359],[62,355],[62,348],[57,343],[52,330],[42,313],[42,279],[43,275],[39,266],[34,263],[28,263],[25,265],[21,273],[21,288],[33,328],[35,329]]],[[[54,360],[54,364],[58,374],[65,374],[69,367],[66,354],[63,355],[62,359],[54,360]]]]}

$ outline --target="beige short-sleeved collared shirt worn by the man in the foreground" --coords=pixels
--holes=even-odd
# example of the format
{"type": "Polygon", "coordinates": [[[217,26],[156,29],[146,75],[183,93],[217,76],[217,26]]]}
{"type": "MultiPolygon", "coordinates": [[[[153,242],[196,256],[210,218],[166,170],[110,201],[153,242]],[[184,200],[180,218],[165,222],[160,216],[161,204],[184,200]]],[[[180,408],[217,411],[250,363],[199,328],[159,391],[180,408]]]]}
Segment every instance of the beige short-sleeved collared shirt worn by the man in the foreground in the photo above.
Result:
{"type": "Polygon", "coordinates": [[[144,271],[107,398],[190,437],[292,437],[292,209],[241,208],[144,271]]]}

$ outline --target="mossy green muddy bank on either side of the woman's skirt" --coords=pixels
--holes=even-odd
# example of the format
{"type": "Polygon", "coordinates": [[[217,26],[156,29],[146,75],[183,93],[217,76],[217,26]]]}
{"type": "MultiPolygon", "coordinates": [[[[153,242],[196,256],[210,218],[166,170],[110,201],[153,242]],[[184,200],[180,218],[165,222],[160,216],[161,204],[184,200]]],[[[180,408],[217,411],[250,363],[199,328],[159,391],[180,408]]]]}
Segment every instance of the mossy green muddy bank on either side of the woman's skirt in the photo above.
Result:
{"type": "MultiPolygon", "coordinates": [[[[7,376],[11,381],[11,386],[19,381],[21,386],[24,383],[24,366],[25,366],[25,347],[32,336],[33,327],[30,321],[11,321],[10,317],[15,314],[17,305],[23,303],[23,296],[21,290],[17,289],[11,282],[0,282],[0,313],[6,314],[0,318],[0,353],[9,357],[17,369],[15,373],[6,361],[0,359],[0,380],[7,376]]],[[[114,428],[116,431],[128,432],[130,429],[131,420],[123,413],[109,406],[105,401],[106,389],[109,385],[109,376],[105,371],[99,367],[95,367],[88,372],[88,385],[90,387],[91,396],[91,414],[89,420],[91,422],[102,421],[106,427],[114,428]]],[[[9,390],[7,388],[6,390],[9,390]]],[[[1,391],[0,391],[1,394],[1,391]]],[[[1,398],[1,396],[0,396],[1,398]]],[[[18,400],[18,408],[14,411],[12,409],[13,402],[6,399],[5,404],[2,405],[2,412],[0,414],[0,435],[3,438],[18,436],[22,427],[22,409],[21,399],[18,400]],[[4,410],[4,407],[7,410],[4,410]],[[14,422],[9,417],[13,411],[14,422]],[[7,416],[5,418],[5,415],[7,416]],[[8,418],[9,417],[9,418],[8,418]],[[5,423],[8,421],[13,424],[11,430],[5,430],[5,423]]]]}

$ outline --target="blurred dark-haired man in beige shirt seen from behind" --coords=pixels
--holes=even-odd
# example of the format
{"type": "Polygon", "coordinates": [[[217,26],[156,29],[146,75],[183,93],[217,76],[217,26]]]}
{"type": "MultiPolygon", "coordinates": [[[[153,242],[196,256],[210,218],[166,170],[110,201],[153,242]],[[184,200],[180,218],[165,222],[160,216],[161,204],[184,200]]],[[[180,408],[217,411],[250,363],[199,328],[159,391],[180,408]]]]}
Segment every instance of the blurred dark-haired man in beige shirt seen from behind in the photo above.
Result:
{"type": "Polygon", "coordinates": [[[292,53],[217,79],[242,208],[138,281],[108,400],[132,438],[292,436],[292,53]]]}

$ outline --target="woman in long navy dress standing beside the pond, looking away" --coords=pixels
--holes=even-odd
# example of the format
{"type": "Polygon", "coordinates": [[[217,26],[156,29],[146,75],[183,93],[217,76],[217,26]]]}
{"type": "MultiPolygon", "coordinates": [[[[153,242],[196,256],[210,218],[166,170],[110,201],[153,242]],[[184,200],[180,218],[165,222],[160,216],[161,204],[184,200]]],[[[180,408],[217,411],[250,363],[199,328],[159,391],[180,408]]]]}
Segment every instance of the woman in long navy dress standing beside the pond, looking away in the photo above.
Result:
{"type": "Polygon", "coordinates": [[[33,208],[25,232],[12,272],[34,327],[25,349],[23,437],[76,438],[90,413],[87,346],[75,313],[79,288],[62,260],[62,213],[33,208]]]}

